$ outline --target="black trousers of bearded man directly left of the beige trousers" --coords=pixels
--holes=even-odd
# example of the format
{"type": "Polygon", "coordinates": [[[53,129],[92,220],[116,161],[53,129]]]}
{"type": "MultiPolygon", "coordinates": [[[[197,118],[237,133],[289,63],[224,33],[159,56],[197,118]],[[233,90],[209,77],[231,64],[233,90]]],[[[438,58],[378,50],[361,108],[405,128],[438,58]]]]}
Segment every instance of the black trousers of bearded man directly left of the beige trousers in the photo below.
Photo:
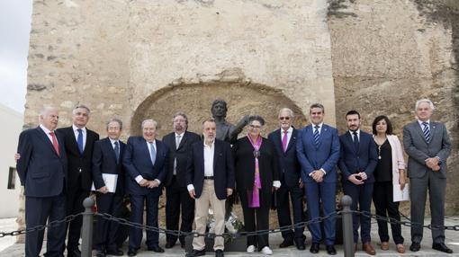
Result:
{"type": "MultiPolygon", "coordinates": [[[[193,230],[194,199],[190,197],[186,187],[181,187],[172,178],[171,184],[166,187],[166,229],[178,230],[182,213],[180,231],[191,232],[193,230]]],[[[166,242],[175,244],[177,235],[166,235],[166,242]]],[[[180,235],[180,242],[184,244],[184,235],[180,235]]]]}

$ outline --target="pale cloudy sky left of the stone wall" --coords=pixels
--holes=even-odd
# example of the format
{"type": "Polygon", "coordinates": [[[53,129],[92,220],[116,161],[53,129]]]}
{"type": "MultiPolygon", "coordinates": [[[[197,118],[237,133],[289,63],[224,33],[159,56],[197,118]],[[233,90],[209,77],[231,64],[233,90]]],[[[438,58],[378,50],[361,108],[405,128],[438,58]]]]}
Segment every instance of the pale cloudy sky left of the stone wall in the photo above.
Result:
{"type": "Polygon", "coordinates": [[[32,0],[0,0],[0,103],[24,111],[32,0]]]}

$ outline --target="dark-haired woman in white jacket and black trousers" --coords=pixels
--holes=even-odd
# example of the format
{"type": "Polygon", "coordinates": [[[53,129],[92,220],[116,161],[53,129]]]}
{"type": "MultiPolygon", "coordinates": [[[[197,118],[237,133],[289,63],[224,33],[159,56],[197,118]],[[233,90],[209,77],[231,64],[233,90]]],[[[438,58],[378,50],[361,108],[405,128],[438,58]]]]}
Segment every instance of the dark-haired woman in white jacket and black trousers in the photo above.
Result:
{"type": "MultiPolygon", "coordinates": [[[[377,145],[378,164],[374,170],[373,202],[376,215],[400,221],[399,202],[393,201],[393,185],[405,187],[405,161],[399,137],[392,134],[392,124],[386,116],[378,116],[373,121],[374,142],[377,145]]],[[[401,225],[391,224],[392,238],[398,253],[405,253],[401,225]]],[[[378,234],[381,249],[389,249],[387,222],[378,219],[378,234]]]]}

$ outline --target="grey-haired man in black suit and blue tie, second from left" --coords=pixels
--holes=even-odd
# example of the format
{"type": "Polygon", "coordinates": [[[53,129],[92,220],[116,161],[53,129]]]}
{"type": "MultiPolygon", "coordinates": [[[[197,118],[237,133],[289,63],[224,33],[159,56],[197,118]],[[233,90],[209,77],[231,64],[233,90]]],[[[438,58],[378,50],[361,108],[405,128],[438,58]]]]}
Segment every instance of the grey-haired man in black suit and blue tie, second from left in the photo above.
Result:
{"type": "MultiPolygon", "coordinates": [[[[85,105],[76,106],[72,111],[73,125],[67,128],[58,128],[58,132],[64,136],[68,158],[67,216],[85,211],[83,200],[89,196],[93,182],[91,161],[94,142],[99,140],[99,135],[86,128],[89,112],[89,108],[85,105]]],[[[81,216],[67,224],[67,256],[69,257],[81,256],[78,245],[82,224],[81,216]]]]}

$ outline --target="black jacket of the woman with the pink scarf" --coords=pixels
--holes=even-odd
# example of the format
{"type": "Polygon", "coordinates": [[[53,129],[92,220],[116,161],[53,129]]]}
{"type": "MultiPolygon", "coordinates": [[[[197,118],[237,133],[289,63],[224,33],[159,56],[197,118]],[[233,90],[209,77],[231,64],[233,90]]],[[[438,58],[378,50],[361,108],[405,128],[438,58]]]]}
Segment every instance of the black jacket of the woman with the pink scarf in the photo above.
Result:
{"type": "MultiPolygon", "coordinates": [[[[239,138],[233,146],[236,166],[236,186],[243,207],[247,207],[247,190],[252,191],[255,179],[254,147],[247,137],[239,138]]],[[[275,146],[263,137],[258,165],[261,180],[260,206],[271,206],[273,182],[279,180],[279,164],[275,146]]],[[[282,186],[282,185],[281,185],[282,186]]]]}

